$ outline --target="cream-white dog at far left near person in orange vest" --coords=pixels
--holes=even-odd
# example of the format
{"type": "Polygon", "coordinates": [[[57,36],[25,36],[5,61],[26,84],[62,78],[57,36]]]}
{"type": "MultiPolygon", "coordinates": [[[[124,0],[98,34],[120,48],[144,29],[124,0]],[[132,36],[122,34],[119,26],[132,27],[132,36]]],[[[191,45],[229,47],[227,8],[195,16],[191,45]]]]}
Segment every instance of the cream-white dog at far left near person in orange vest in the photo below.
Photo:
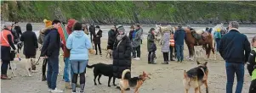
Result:
{"type": "MultiPolygon", "coordinates": [[[[11,61],[10,66],[12,68],[12,74],[14,75],[14,77],[16,76],[15,70],[17,70],[17,64],[18,67],[24,69],[24,74],[28,75],[28,76],[32,76],[31,72],[33,72],[31,69],[31,65],[36,65],[36,59],[35,58],[29,58],[29,59],[21,59],[21,61],[17,61],[19,59],[15,59],[15,61],[11,61]],[[16,62],[20,62],[20,63],[16,63],[16,62]]],[[[36,71],[34,71],[36,72],[36,71]]]]}

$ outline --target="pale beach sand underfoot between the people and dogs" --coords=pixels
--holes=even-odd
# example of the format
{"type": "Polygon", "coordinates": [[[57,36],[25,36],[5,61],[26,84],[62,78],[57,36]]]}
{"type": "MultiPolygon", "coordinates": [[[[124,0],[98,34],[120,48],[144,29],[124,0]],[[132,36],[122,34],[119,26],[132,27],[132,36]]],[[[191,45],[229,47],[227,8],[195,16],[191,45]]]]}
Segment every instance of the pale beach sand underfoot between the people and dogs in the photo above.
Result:
{"type": "MultiPolygon", "coordinates": [[[[112,63],[112,59],[105,57],[106,55],[106,39],[102,40],[102,57],[100,55],[90,55],[89,64],[94,63],[112,63]]],[[[145,71],[151,74],[151,79],[147,79],[142,87],[139,89],[139,93],[183,93],[184,86],[182,84],[183,72],[184,70],[189,70],[196,67],[196,61],[189,61],[185,59],[184,63],[170,62],[168,65],[161,64],[163,62],[161,47],[157,46],[157,64],[147,63],[147,50],[146,50],[146,40],[143,41],[141,46],[141,60],[132,61],[132,76],[138,76],[145,71]]],[[[60,51],[62,52],[62,51],[60,51]]],[[[188,56],[187,47],[185,47],[185,57],[188,56]]],[[[37,57],[40,52],[37,52],[37,57]]],[[[20,53],[21,57],[24,57],[20,53]]],[[[201,63],[208,61],[209,76],[208,76],[208,87],[209,93],[225,93],[226,84],[226,74],[225,74],[225,61],[217,53],[217,60],[213,60],[213,56],[208,60],[204,58],[199,59],[201,63]]],[[[47,93],[48,86],[45,81],[41,81],[42,63],[37,65],[37,73],[32,73],[32,77],[20,76],[24,74],[23,70],[17,69],[17,77],[10,80],[1,81],[1,93],[47,93]]],[[[62,81],[64,62],[63,57],[60,56],[60,75],[58,76],[57,88],[60,90],[65,90],[65,82],[62,81]]],[[[8,70],[8,75],[11,76],[11,71],[8,70]]],[[[93,69],[87,68],[86,74],[86,93],[119,93],[115,86],[107,87],[108,77],[102,76],[100,79],[102,85],[94,85],[94,75],[93,69]]],[[[247,68],[245,67],[244,85],[242,93],[247,93],[250,85],[250,76],[247,73],[247,68]]],[[[118,84],[119,79],[116,79],[116,84],[118,84]]],[[[202,86],[202,93],[205,93],[205,87],[202,86]]],[[[78,88],[77,88],[78,90],[78,88]]],[[[127,91],[132,93],[134,89],[127,91]]],[[[236,90],[236,79],[234,82],[233,90],[236,90]]],[[[193,89],[190,93],[193,93],[193,89]]],[[[71,93],[71,90],[65,90],[65,93],[71,93]]]]}

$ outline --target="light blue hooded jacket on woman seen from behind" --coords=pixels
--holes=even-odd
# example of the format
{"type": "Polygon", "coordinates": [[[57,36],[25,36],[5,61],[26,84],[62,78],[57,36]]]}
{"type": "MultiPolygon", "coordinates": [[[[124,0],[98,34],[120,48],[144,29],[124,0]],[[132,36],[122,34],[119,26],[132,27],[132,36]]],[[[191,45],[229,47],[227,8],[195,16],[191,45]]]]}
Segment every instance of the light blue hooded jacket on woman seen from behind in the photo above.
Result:
{"type": "Polygon", "coordinates": [[[70,60],[88,60],[88,49],[91,41],[82,30],[74,30],[66,41],[67,49],[71,50],[70,60]]]}

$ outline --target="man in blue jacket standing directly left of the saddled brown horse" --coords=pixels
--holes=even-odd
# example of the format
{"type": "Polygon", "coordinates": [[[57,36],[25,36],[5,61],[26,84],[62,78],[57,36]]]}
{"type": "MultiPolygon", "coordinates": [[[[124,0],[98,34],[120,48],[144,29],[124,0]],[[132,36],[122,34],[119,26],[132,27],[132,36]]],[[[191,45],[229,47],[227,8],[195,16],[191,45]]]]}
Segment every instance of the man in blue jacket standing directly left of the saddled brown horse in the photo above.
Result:
{"type": "Polygon", "coordinates": [[[184,58],[184,55],[183,55],[184,39],[185,39],[185,30],[182,29],[182,25],[179,25],[178,30],[176,30],[174,33],[174,43],[177,51],[178,62],[180,63],[182,63],[184,58]]]}

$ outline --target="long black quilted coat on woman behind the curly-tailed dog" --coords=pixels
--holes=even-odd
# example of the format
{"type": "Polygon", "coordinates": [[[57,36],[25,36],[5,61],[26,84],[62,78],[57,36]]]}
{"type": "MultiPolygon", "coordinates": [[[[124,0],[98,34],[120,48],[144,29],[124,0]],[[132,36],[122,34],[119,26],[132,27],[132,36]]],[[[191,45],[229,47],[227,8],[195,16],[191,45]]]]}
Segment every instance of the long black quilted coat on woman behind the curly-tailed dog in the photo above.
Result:
{"type": "Polygon", "coordinates": [[[114,77],[121,79],[122,71],[131,69],[131,41],[128,36],[122,37],[122,42],[115,41],[113,48],[113,74],[114,77]]]}

